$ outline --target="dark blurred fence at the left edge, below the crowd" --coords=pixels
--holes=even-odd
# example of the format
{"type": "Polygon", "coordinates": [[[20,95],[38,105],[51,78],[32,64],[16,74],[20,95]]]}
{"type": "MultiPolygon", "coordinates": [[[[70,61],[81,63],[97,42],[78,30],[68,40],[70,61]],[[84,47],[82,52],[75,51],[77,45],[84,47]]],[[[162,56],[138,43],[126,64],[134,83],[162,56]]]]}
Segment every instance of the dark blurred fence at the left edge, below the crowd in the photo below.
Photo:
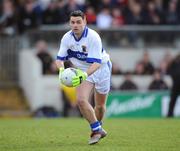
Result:
{"type": "Polygon", "coordinates": [[[21,48],[19,36],[0,36],[0,87],[18,84],[18,54],[21,48]]]}

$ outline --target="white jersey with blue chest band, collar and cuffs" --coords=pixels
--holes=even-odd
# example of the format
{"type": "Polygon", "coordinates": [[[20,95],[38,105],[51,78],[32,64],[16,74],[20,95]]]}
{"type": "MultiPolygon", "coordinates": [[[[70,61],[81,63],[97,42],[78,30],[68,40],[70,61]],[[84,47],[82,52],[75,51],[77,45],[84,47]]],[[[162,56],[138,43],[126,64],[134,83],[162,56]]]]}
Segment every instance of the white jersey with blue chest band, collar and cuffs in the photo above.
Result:
{"type": "Polygon", "coordinates": [[[62,37],[57,59],[70,60],[76,68],[86,71],[94,62],[107,63],[109,55],[103,49],[98,33],[85,27],[79,39],[72,31],[62,37]]]}

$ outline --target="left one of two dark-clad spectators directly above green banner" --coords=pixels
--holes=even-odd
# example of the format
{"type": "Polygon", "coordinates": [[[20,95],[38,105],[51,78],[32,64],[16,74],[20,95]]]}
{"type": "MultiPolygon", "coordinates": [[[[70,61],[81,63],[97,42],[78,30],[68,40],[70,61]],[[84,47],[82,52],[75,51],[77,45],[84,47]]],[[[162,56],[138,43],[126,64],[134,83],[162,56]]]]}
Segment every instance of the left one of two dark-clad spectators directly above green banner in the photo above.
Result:
{"type": "Polygon", "coordinates": [[[124,82],[120,85],[119,90],[137,90],[138,87],[132,81],[131,74],[127,72],[125,75],[124,82]]]}

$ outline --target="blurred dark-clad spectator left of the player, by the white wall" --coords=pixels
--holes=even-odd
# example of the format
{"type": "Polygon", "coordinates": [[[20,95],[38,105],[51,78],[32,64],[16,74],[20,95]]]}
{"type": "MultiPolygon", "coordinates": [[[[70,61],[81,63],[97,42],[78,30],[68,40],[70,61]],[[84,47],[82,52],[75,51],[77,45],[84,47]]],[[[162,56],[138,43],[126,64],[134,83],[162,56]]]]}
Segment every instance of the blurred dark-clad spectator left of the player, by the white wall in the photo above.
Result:
{"type": "Polygon", "coordinates": [[[56,74],[57,69],[52,56],[48,52],[47,44],[45,41],[40,40],[36,44],[37,57],[42,62],[43,74],[56,74]]]}

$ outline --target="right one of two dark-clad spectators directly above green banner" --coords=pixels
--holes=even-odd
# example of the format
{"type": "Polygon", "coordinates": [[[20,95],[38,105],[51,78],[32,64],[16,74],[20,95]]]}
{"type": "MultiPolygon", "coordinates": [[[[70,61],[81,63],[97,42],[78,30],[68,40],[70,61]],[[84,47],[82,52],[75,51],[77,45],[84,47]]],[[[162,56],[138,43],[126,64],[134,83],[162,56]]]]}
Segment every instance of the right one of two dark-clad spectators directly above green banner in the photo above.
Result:
{"type": "Polygon", "coordinates": [[[161,76],[160,70],[156,70],[153,75],[153,80],[149,85],[149,90],[167,90],[168,86],[161,76]]]}

